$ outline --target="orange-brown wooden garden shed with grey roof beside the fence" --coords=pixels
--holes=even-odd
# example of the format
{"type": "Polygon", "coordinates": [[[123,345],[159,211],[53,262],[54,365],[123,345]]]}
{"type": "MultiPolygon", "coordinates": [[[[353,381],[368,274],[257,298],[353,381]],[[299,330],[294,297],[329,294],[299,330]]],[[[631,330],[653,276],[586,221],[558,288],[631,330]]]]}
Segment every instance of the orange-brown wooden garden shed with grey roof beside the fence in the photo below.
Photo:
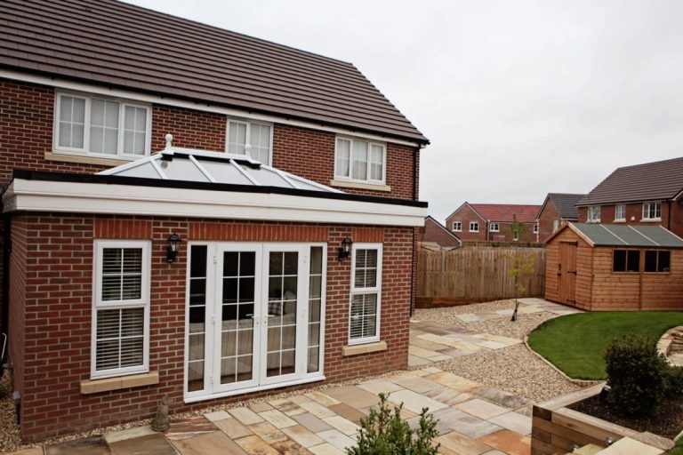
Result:
{"type": "Polygon", "coordinates": [[[546,247],[546,299],[593,311],[683,309],[683,239],[661,226],[568,223],[546,247]]]}

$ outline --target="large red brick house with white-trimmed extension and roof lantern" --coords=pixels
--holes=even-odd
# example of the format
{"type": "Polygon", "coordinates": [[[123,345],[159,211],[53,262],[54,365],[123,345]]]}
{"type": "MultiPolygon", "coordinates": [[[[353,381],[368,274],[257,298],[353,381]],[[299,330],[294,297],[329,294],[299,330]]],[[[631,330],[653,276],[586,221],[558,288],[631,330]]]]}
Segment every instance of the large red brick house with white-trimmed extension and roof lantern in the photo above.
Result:
{"type": "Polygon", "coordinates": [[[357,68],[117,2],[0,18],[25,441],[406,367],[429,141],[357,68]]]}

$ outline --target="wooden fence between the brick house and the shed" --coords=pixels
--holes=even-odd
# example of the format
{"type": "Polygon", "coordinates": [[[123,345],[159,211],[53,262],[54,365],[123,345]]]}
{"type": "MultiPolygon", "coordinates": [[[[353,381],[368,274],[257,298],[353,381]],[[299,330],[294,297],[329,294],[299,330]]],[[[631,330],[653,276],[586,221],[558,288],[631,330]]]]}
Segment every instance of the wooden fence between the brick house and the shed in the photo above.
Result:
{"type": "Polygon", "coordinates": [[[417,306],[430,307],[506,299],[515,295],[510,256],[534,256],[534,274],[523,279],[520,297],[543,295],[544,248],[466,247],[450,251],[420,248],[417,254],[417,306]]]}

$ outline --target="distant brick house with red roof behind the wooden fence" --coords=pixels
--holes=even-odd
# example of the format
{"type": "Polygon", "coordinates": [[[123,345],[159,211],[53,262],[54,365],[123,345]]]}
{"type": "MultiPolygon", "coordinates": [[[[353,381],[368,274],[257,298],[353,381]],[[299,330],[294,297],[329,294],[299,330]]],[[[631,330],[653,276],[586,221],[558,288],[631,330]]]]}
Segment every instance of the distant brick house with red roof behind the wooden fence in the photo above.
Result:
{"type": "Polygon", "coordinates": [[[446,228],[462,242],[538,242],[536,215],[540,205],[470,204],[446,218],[446,228]],[[513,221],[521,229],[513,232],[513,221]]]}

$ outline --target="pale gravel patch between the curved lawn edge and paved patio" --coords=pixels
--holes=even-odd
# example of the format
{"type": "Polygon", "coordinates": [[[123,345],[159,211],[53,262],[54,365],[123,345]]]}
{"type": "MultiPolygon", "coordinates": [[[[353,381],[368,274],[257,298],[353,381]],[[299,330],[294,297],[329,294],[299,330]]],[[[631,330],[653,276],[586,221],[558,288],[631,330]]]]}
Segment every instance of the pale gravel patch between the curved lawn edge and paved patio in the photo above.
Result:
{"type": "Polygon", "coordinates": [[[564,379],[524,344],[462,355],[435,366],[485,386],[524,396],[535,403],[582,388],[564,379]]]}

